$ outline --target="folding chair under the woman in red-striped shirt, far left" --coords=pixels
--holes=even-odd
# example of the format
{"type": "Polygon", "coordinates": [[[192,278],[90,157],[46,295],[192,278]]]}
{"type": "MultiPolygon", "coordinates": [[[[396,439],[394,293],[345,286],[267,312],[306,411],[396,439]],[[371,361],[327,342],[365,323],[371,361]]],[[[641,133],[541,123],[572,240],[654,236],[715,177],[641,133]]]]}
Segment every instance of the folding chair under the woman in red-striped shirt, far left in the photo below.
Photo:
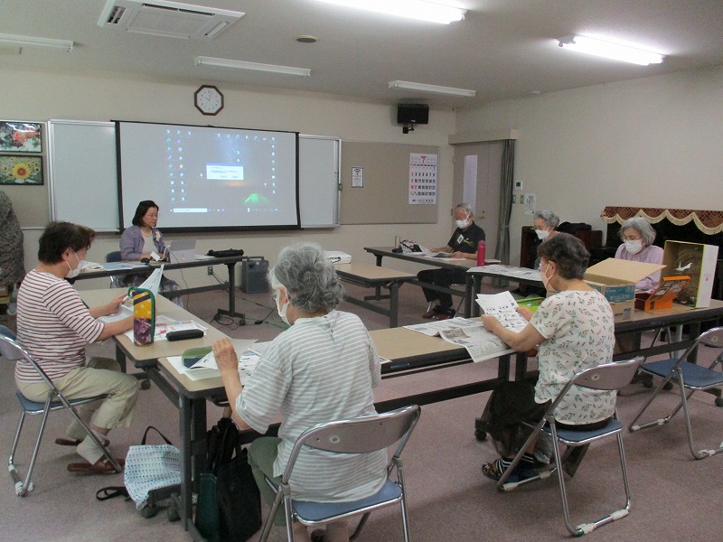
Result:
{"type": "Polygon", "coordinates": [[[25,495],[27,495],[28,491],[33,491],[33,481],[31,480],[31,477],[33,476],[33,469],[35,468],[35,460],[37,459],[38,452],[40,451],[42,432],[45,429],[45,422],[47,422],[48,420],[48,415],[51,413],[51,411],[54,410],[69,410],[70,414],[72,416],[75,416],[75,419],[78,420],[78,423],[80,423],[80,425],[85,429],[86,433],[96,442],[96,444],[100,446],[100,448],[103,450],[103,453],[105,453],[106,457],[108,457],[108,461],[111,465],[113,465],[113,468],[116,470],[116,472],[123,471],[123,467],[119,463],[117,463],[116,458],[114,458],[108,452],[108,449],[103,445],[102,442],[100,442],[98,436],[93,433],[88,424],[86,424],[82,420],[82,418],[78,414],[78,411],[75,408],[76,406],[84,405],[86,403],[92,403],[94,401],[101,401],[103,399],[107,399],[109,397],[108,395],[72,399],[68,399],[67,397],[63,396],[61,391],[56,388],[55,385],[52,383],[51,378],[49,378],[48,375],[45,374],[45,372],[41,369],[37,361],[33,360],[33,357],[30,355],[30,353],[28,353],[28,351],[25,350],[20,345],[20,343],[15,341],[14,333],[7,329],[4,325],[0,325],[0,354],[2,354],[5,360],[28,361],[31,365],[33,365],[33,369],[38,372],[42,380],[50,388],[50,390],[48,391],[48,397],[44,403],[31,401],[30,399],[25,398],[23,394],[20,393],[20,391],[15,392],[15,396],[18,398],[20,406],[23,407],[23,412],[20,415],[20,422],[18,423],[17,430],[15,431],[13,449],[10,452],[10,459],[7,462],[7,470],[10,472],[10,476],[15,484],[15,493],[19,497],[24,497],[25,495]],[[25,479],[22,480],[14,464],[14,455],[15,451],[17,450],[17,444],[20,441],[20,434],[23,431],[23,423],[25,421],[26,415],[42,415],[42,419],[40,423],[40,429],[38,430],[38,437],[35,441],[35,447],[33,449],[33,456],[31,457],[30,464],[28,465],[28,472],[27,474],[25,474],[25,479]]]}

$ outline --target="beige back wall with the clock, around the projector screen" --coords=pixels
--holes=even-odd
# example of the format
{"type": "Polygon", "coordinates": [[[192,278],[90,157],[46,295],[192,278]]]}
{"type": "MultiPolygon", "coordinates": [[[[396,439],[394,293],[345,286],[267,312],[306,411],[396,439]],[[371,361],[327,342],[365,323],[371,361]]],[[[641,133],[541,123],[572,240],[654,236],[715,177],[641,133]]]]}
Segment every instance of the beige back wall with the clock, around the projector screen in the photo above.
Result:
{"type": "MultiPolygon", "coordinates": [[[[330,250],[343,250],[355,261],[371,264],[374,259],[363,251],[364,246],[390,246],[395,236],[439,244],[448,238],[452,229],[449,218],[450,209],[454,206],[451,199],[452,149],[446,145],[447,136],[455,126],[455,114],[451,110],[433,108],[429,125],[418,126],[413,133],[402,135],[396,122],[395,107],[341,97],[219,83],[217,86],[224,94],[225,107],[217,117],[202,117],[193,107],[192,100],[199,81],[152,80],[117,73],[70,74],[2,68],[0,78],[16,83],[0,87],[0,119],[121,119],[213,124],[332,135],[354,141],[436,145],[440,149],[437,224],[354,225],[293,232],[206,234],[199,238],[199,251],[243,248],[247,255],[265,256],[273,262],[278,250],[286,244],[312,240],[330,250]]],[[[205,82],[215,84],[213,80],[205,82]]],[[[78,204],[92,205],[92,195],[79,194],[78,204]]],[[[163,229],[163,210],[159,227],[163,229]]],[[[39,234],[38,230],[24,230],[27,269],[37,263],[39,234]]],[[[117,249],[117,240],[117,236],[101,235],[91,248],[88,259],[102,261],[108,251],[117,249]]],[[[397,266],[402,268],[399,264],[397,266]]],[[[211,284],[205,269],[186,270],[183,279],[192,285],[211,284]]],[[[83,284],[90,285],[91,282],[96,281],[83,284]]],[[[107,281],[95,286],[98,285],[105,286],[107,281]]]]}

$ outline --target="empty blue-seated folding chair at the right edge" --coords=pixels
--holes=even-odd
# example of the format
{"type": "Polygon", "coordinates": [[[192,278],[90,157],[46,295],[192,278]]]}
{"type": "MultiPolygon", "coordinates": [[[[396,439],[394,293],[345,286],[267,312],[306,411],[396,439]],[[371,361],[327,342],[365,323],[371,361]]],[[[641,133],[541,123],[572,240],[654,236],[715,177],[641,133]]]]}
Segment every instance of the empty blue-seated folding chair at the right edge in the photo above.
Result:
{"type": "MultiPolygon", "coordinates": [[[[682,407],[683,415],[685,416],[685,426],[688,431],[688,445],[690,446],[690,453],[692,453],[693,457],[696,459],[703,459],[705,457],[709,457],[710,455],[723,452],[723,443],[721,443],[718,448],[698,451],[693,444],[693,429],[690,425],[688,399],[690,399],[690,396],[692,396],[697,390],[723,386],[723,372],[721,372],[720,369],[723,367],[723,350],[721,350],[718,354],[718,358],[713,360],[708,368],[688,361],[690,354],[697,352],[701,344],[711,348],[723,349],[723,327],[712,328],[707,332],[701,333],[700,337],[682,353],[680,358],[651,361],[650,363],[645,363],[641,366],[640,369],[643,372],[656,377],[661,377],[662,381],[658,384],[657,388],[653,390],[651,396],[645,401],[643,407],[640,411],[638,411],[633,422],[628,427],[630,431],[638,431],[639,429],[644,429],[645,427],[651,427],[653,425],[663,425],[669,422],[673,416],[678,414],[678,411],[680,411],[682,407]],[[716,367],[718,367],[718,370],[716,370],[716,367]],[[665,388],[669,382],[677,383],[678,388],[681,391],[681,402],[678,403],[678,406],[675,406],[668,416],[645,424],[635,424],[635,422],[638,421],[638,418],[643,415],[645,409],[653,402],[653,399],[658,396],[661,390],[665,388]],[[690,390],[687,394],[686,389],[690,390]]],[[[718,403],[717,399],[716,404],[718,405],[718,403]]]]}

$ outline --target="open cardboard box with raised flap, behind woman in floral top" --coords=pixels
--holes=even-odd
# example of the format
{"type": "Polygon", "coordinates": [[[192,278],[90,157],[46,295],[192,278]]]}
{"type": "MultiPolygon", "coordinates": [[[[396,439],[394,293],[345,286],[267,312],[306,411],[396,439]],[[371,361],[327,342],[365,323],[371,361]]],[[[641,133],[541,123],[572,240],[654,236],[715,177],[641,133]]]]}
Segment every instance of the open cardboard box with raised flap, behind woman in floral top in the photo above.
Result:
{"type": "Polygon", "coordinates": [[[660,271],[664,266],[643,264],[608,257],[594,266],[587,267],[585,280],[605,295],[613,307],[615,322],[630,320],[635,310],[635,283],[660,271]]]}

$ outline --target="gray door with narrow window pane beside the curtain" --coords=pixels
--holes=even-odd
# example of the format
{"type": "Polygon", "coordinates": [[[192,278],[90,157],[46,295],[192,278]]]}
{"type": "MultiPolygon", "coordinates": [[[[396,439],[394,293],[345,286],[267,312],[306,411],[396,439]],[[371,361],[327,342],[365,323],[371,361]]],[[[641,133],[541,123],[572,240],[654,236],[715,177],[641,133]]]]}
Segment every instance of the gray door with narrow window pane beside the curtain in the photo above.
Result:
{"type": "Polygon", "coordinates": [[[488,258],[497,248],[502,149],[501,141],[455,145],[452,195],[455,205],[463,201],[472,205],[474,221],[484,229],[488,258]]]}

